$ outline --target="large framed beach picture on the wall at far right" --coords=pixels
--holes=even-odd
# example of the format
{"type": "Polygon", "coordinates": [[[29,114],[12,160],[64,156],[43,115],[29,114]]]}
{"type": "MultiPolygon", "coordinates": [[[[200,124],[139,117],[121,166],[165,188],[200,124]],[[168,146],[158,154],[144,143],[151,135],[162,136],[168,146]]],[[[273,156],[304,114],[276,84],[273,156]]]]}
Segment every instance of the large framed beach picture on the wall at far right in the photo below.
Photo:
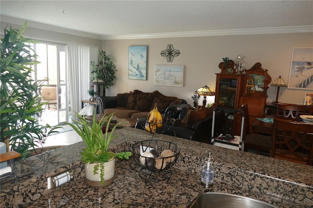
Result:
{"type": "Polygon", "coordinates": [[[293,48],[288,88],[313,89],[313,48],[293,48]]]}

